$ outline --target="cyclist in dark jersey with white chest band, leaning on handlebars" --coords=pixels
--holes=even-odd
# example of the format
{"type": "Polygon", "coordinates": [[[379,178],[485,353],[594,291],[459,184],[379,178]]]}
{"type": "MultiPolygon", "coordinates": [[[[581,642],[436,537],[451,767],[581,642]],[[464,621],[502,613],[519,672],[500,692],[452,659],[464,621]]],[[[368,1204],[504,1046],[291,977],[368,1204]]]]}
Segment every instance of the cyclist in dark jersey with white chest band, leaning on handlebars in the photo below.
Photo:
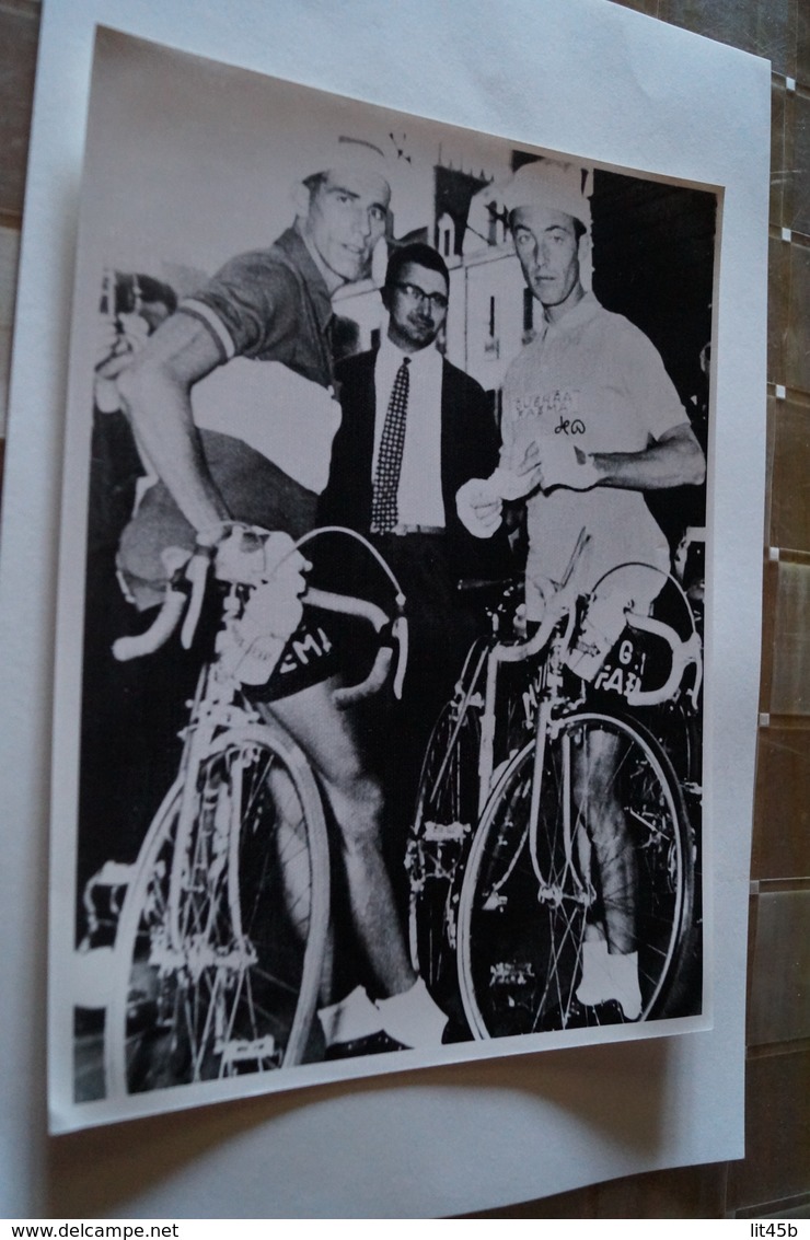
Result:
{"type": "MultiPolygon", "coordinates": [[[[340,420],[331,399],[331,295],[368,274],[372,250],[386,232],[388,200],[381,153],[341,140],[323,170],[298,187],[294,226],[268,250],[227,263],[181,303],[119,377],[140,446],[159,476],[122,544],[122,568],[140,605],[160,595],[166,577],[161,552],[167,546],[225,546],[234,518],[293,536],[314,523],[319,482],[323,487],[326,481],[340,420]],[[268,446],[273,428],[265,440],[262,419],[252,410],[231,404],[218,419],[195,417],[197,387],[202,389],[220,367],[225,377],[242,358],[277,367],[277,378],[280,363],[280,372],[293,377],[296,409],[310,419],[308,464],[299,476],[279,467],[268,446]]],[[[268,367],[268,383],[270,374],[268,367]]],[[[267,694],[273,701],[264,709],[299,742],[329,799],[352,929],[376,999],[358,986],[324,1008],[327,1045],[340,1054],[438,1043],[445,1018],[409,962],[382,854],[382,795],[366,768],[351,713],[332,701],[339,677],[330,644],[306,630],[287,636],[275,686],[267,694]]]]}

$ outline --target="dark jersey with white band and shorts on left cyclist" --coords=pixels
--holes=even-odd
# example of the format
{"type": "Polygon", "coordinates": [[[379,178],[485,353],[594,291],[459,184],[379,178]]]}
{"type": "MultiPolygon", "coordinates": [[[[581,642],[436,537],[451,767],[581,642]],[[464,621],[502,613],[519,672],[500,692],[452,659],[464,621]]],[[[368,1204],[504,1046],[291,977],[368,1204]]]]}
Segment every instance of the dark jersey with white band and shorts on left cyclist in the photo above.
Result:
{"type": "MultiPolygon", "coordinates": [[[[177,314],[205,326],[223,363],[194,386],[191,401],[228,510],[298,537],[315,522],[340,424],[331,392],[331,300],[303,238],[290,228],[269,249],[226,263],[177,314]]],[[[162,596],[162,549],[194,543],[192,527],[158,482],[119,551],[139,606],[162,596]]]]}

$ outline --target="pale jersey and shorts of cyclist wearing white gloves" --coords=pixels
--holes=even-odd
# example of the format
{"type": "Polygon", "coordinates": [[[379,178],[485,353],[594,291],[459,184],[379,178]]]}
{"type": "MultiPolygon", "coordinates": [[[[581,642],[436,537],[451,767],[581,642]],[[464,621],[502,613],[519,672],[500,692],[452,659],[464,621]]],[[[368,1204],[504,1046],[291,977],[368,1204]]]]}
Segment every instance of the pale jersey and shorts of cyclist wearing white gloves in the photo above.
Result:
{"type": "MultiPolygon", "coordinates": [[[[584,453],[640,453],[687,422],[672,381],[650,340],[592,293],[548,324],[510,366],[504,384],[501,460],[517,465],[528,445],[564,435],[584,453]]],[[[669,570],[669,546],[640,491],[557,487],[528,500],[526,603],[540,619],[543,599],[566,580],[589,590],[629,562],[669,570]]],[[[649,575],[649,574],[648,574],[649,575]]]]}

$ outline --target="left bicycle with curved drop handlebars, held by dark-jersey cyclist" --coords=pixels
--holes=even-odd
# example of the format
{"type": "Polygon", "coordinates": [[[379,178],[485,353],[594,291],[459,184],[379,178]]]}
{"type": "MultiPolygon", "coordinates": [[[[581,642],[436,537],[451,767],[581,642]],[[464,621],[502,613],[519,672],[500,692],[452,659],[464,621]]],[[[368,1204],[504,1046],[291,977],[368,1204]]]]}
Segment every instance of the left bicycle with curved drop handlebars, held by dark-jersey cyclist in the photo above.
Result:
{"type": "MultiPolygon", "coordinates": [[[[301,548],[314,531],[295,544],[301,548]]],[[[351,531],[340,531],[365,539],[351,531]]],[[[251,529],[249,537],[265,538],[251,529]]],[[[308,587],[301,601],[363,621],[380,642],[367,676],[340,688],[342,706],[376,692],[407,646],[397,614],[308,587]]],[[[196,629],[211,565],[185,569],[191,596],[170,589],[145,634],[122,639],[118,658],[161,646],[185,615],[196,629]]],[[[177,777],[128,875],[118,916],[107,1004],[107,1095],[268,1071],[316,1058],[314,1013],[327,950],[330,856],[321,794],[308,760],[278,720],[260,718],[234,671],[239,624],[252,589],[229,584],[223,622],[203,666],[177,777]]],[[[120,868],[119,868],[120,869],[120,868]]],[[[120,880],[120,874],[115,875],[120,880]]]]}

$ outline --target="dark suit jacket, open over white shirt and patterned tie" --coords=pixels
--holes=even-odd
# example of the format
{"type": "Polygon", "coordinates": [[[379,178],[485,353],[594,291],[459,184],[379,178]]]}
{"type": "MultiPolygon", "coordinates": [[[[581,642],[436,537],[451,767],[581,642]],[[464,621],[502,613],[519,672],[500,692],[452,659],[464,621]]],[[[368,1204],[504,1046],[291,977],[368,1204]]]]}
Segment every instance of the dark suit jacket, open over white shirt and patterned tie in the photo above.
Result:
{"type": "MultiPolygon", "coordinates": [[[[375,446],[375,361],[371,351],[336,367],[342,422],[332,444],[329,484],[319,507],[319,525],[371,528],[375,446]]],[[[506,536],[474,538],[455,511],[455,492],[471,477],[489,477],[499,460],[500,435],[480,383],[448,361],[442,363],[442,494],[448,563],[458,578],[509,575],[506,536]]]]}

